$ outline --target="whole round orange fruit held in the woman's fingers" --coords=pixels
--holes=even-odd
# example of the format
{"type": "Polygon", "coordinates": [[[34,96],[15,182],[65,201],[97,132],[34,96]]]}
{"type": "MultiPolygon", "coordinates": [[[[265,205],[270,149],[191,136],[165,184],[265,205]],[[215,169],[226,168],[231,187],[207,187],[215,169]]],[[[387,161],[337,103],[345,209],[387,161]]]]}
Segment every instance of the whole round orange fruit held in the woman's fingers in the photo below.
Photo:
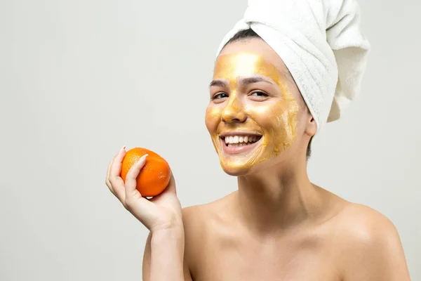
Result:
{"type": "Polygon", "coordinates": [[[142,197],[153,197],[159,195],[170,182],[170,166],[161,156],[146,148],[132,148],[126,152],[121,163],[121,178],[126,182],[128,170],[147,154],[145,166],[142,167],[136,178],[136,189],[142,197]]]}

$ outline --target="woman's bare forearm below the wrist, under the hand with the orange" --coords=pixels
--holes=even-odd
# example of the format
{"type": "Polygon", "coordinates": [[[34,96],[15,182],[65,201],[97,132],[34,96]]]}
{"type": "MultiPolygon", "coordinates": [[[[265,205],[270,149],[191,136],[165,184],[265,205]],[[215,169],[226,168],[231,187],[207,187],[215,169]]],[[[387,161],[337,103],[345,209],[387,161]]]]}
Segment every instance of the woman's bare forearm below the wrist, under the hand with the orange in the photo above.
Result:
{"type": "Polygon", "coordinates": [[[143,281],[192,281],[184,262],[184,230],[149,233],[143,255],[143,281]]]}

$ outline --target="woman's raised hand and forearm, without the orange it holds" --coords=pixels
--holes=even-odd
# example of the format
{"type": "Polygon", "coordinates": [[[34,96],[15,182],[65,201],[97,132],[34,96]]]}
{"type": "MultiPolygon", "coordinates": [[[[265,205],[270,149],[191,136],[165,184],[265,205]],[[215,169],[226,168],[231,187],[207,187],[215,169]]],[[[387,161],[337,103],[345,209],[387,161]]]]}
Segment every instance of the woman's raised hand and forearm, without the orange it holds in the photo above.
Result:
{"type": "Polygon", "coordinates": [[[133,164],[124,182],[120,176],[124,155],[125,147],[109,164],[105,183],[121,204],[149,230],[143,260],[143,280],[192,280],[183,276],[185,233],[172,172],[166,189],[148,200],[136,188],[136,178],[145,165],[145,156],[133,164]]]}

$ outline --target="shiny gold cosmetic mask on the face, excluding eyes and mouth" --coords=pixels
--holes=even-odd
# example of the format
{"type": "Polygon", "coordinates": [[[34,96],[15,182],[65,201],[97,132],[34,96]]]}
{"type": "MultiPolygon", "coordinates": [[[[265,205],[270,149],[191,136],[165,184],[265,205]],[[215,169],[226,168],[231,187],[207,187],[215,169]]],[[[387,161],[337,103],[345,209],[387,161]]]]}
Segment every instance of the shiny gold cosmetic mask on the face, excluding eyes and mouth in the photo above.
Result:
{"type": "MultiPolygon", "coordinates": [[[[286,79],[274,65],[256,53],[220,55],[215,64],[213,80],[229,84],[227,100],[223,103],[211,101],[206,111],[206,126],[220,156],[222,168],[250,167],[276,157],[290,147],[296,137],[299,107],[288,89],[286,79]],[[241,87],[241,81],[253,77],[270,81],[279,91],[268,93],[269,98],[261,102],[250,100],[247,96],[249,93],[241,87]],[[243,121],[230,122],[231,117],[243,121]],[[220,147],[219,133],[222,131],[256,131],[262,134],[262,139],[253,150],[229,155],[220,147]]],[[[253,91],[258,90],[257,86],[253,86],[253,91]]]]}

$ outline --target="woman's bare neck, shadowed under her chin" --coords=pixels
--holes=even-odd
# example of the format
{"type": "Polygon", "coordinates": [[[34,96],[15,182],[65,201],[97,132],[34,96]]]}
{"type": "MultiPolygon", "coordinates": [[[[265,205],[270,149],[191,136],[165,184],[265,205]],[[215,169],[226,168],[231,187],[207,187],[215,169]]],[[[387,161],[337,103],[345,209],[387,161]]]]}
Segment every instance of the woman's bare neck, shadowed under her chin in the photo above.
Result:
{"type": "Polygon", "coordinates": [[[236,206],[246,228],[266,235],[320,213],[321,197],[309,181],[307,164],[264,170],[238,178],[236,206]]]}

